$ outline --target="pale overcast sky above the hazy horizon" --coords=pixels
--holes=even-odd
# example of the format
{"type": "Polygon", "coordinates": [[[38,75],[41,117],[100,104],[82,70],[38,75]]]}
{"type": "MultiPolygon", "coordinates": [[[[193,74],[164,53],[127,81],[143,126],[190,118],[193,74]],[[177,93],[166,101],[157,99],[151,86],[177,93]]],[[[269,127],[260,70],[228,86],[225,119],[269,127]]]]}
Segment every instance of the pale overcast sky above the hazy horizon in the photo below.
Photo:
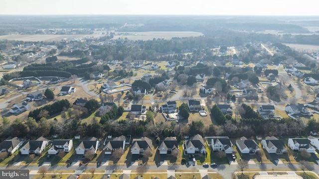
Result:
{"type": "Polygon", "coordinates": [[[0,0],[0,14],[319,15],[317,0],[0,0]]]}

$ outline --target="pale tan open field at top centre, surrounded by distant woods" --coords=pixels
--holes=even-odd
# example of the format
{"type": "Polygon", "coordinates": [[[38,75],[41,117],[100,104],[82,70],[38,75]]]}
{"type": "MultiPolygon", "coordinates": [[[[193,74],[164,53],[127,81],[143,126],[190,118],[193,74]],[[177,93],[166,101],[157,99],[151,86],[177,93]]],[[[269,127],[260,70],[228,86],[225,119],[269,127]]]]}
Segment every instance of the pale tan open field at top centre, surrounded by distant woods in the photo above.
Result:
{"type": "Polygon", "coordinates": [[[153,40],[163,38],[170,40],[172,37],[189,37],[203,35],[200,32],[192,31],[150,31],[150,32],[117,32],[113,39],[128,38],[129,40],[153,40]]]}

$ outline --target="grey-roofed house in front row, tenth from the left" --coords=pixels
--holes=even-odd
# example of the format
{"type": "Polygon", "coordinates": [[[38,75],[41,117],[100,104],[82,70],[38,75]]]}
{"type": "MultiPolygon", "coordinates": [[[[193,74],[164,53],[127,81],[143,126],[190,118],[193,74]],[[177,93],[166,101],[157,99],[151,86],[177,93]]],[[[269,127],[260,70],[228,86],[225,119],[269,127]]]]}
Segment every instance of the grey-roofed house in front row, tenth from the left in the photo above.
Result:
{"type": "Polygon", "coordinates": [[[240,140],[236,140],[236,146],[242,154],[256,154],[260,151],[260,148],[255,140],[241,137],[240,140]]]}

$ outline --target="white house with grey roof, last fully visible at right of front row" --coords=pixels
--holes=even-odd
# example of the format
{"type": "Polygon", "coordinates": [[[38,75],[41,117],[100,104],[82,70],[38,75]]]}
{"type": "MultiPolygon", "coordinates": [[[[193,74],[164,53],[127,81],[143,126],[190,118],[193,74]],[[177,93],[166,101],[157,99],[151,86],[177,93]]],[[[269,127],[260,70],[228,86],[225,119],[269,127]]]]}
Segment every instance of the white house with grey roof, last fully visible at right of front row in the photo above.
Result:
{"type": "Polygon", "coordinates": [[[310,144],[310,140],[306,138],[289,138],[288,147],[294,151],[306,150],[309,153],[315,153],[316,149],[310,144]]]}

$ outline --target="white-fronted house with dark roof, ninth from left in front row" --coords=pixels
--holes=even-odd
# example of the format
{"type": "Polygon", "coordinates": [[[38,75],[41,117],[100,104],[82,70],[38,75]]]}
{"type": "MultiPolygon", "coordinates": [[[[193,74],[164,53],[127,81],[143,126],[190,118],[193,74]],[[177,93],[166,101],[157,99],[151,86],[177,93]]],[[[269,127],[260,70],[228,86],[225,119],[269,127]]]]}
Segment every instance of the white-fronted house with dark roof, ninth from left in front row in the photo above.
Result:
{"type": "Polygon", "coordinates": [[[228,137],[213,137],[211,139],[211,149],[213,151],[225,151],[226,154],[232,154],[233,144],[228,137]]]}

